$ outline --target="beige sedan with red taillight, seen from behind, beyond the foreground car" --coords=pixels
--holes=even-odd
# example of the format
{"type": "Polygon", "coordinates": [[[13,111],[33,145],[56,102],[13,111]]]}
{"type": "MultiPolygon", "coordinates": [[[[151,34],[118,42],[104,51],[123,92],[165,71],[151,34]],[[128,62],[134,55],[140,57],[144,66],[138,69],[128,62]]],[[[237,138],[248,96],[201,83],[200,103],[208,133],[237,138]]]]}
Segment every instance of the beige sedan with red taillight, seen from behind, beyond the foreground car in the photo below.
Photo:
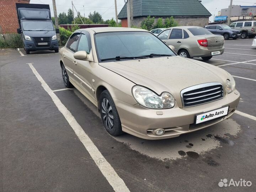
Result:
{"type": "Polygon", "coordinates": [[[202,57],[209,60],[213,55],[224,53],[224,37],[214,35],[203,27],[171,27],[161,32],[158,37],[181,57],[202,57]]]}

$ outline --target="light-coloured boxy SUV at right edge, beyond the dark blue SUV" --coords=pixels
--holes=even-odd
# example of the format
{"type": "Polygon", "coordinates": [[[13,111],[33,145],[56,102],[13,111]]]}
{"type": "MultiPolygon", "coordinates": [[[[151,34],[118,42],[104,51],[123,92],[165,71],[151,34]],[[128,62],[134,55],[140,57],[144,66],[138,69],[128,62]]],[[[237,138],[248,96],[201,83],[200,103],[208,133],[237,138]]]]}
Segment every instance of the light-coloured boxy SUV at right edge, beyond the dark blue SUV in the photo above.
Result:
{"type": "Polygon", "coordinates": [[[230,25],[232,29],[241,31],[241,38],[254,38],[256,35],[256,21],[238,21],[230,25]]]}

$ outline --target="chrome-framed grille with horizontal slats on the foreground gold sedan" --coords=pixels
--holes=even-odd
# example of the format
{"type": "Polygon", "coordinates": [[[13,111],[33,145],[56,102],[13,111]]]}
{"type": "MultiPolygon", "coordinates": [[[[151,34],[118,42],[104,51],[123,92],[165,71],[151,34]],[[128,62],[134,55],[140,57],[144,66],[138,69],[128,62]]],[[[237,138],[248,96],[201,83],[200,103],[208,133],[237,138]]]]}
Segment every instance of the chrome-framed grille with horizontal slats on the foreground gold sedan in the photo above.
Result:
{"type": "Polygon", "coordinates": [[[183,107],[201,105],[219,100],[223,97],[223,85],[219,82],[211,82],[188,87],[181,91],[183,107]]]}

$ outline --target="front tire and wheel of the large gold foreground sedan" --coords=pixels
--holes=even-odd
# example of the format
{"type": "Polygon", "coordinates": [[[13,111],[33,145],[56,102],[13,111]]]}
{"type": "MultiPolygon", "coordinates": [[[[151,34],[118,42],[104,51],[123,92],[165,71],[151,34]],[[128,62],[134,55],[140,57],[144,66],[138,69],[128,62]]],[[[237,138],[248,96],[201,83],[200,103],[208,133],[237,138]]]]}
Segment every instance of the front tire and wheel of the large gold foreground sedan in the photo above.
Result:
{"type": "Polygon", "coordinates": [[[106,131],[113,136],[123,134],[116,106],[107,90],[103,91],[100,95],[99,109],[106,131]]]}

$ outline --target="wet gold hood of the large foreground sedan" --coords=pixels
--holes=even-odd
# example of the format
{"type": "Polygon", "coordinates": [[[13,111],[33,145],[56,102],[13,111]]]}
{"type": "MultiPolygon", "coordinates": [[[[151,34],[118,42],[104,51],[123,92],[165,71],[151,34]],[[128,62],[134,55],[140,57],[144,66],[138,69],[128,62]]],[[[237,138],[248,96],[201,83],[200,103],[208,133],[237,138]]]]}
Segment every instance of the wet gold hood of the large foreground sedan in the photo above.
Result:
{"type": "Polygon", "coordinates": [[[99,63],[99,65],[129,79],[137,85],[148,87],[160,95],[170,92],[175,100],[187,87],[207,82],[224,85],[228,73],[216,66],[179,56],[99,63]]]}

